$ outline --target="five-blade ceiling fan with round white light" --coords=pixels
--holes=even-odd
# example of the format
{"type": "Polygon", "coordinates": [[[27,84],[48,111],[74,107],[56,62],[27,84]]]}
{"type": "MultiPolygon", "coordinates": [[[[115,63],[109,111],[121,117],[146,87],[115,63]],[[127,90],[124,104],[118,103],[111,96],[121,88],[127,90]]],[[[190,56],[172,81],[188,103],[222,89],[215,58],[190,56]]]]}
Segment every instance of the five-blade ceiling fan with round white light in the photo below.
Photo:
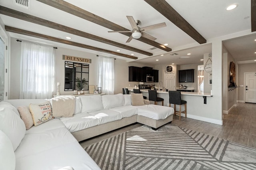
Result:
{"type": "Polygon", "coordinates": [[[132,31],[108,31],[108,32],[132,32],[132,35],[126,41],[127,43],[130,42],[133,38],[139,39],[141,36],[148,38],[149,40],[155,41],[156,38],[154,38],[153,36],[150,36],[149,34],[146,34],[144,31],[149,31],[149,30],[153,30],[156,28],[166,27],[165,22],[163,22],[160,24],[155,24],[152,26],[146,26],[146,27],[140,28],[140,27],[138,27],[138,25],[140,24],[140,20],[134,20],[132,16],[126,16],[126,17],[132,26],[132,31]]]}

